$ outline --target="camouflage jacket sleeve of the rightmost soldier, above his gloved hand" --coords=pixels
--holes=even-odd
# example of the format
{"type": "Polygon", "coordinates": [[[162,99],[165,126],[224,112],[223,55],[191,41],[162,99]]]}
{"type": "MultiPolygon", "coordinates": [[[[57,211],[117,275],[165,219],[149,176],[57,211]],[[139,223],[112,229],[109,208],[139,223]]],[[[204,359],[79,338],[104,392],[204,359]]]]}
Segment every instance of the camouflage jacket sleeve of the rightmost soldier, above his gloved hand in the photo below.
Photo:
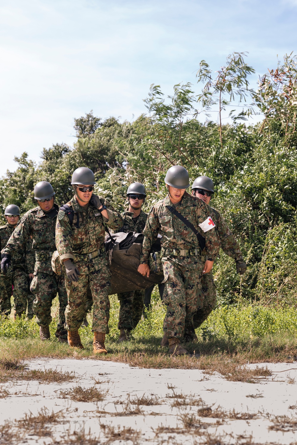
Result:
{"type": "Polygon", "coordinates": [[[211,210],[212,221],[216,224],[216,233],[220,239],[220,248],[235,260],[243,259],[239,244],[230,232],[226,221],[216,209],[211,207],[211,210]]]}

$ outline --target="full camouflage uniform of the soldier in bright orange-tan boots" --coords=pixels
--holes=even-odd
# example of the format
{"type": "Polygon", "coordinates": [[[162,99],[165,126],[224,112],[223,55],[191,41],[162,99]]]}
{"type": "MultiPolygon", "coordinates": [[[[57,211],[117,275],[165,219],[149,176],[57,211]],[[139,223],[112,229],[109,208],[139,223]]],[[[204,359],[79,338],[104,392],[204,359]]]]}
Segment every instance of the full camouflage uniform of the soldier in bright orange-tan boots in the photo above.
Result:
{"type": "Polygon", "coordinates": [[[110,313],[110,267],[105,253],[105,224],[112,229],[122,226],[121,215],[101,198],[107,207],[109,220],[102,216],[96,207],[89,204],[86,209],[81,207],[74,196],[67,206],[75,212],[70,225],[69,218],[63,210],[59,211],[56,225],[56,246],[63,259],[72,259],[80,275],[78,282],[65,280],[68,294],[68,305],[65,311],[68,331],[76,331],[85,316],[87,288],[90,286],[93,309],[93,332],[108,333],[110,313]]]}

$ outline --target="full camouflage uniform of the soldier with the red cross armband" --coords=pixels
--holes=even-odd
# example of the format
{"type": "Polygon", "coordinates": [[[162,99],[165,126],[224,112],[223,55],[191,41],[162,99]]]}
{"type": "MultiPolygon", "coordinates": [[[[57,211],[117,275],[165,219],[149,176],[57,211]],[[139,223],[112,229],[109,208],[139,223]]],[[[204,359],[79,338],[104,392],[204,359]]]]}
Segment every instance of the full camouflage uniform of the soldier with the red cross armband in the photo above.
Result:
{"type": "MultiPolygon", "coordinates": [[[[198,239],[194,232],[185,226],[166,206],[172,206],[169,195],[153,206],[144,228],[142,255],[140,262],[147,263],[151,246],[161,238],[161,257],[164,272],[165,290],[163,302],[167,304],[163,330],[168,338],[183,338],[185,322],[192,320],[198,307],[203,306],[201,294],[201,276],[207,257],[201,256],[198,239]]],[[[210,207],[201,200],[196,200],[187,192],[176,206],[199,230],[199,223],[210,214],[210,207]]],[[[206,241],[208,259],[214,260],[219,252],[219,241],[214,228],[202,232],[206,241]]]]}

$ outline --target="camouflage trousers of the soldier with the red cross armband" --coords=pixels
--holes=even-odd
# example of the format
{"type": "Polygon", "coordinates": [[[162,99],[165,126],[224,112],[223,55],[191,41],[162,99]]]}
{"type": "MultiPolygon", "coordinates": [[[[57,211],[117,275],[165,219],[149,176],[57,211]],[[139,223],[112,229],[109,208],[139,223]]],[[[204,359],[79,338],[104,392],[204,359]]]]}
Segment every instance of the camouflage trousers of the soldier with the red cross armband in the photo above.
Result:
{"type": "Polygon", "coordinates": [[[167,305],[163,331],[168,338],[183,339],[185,324],[191,322],[197,307],[203,305],[200,257],[183,257],[179,263],[169,257],[162,259],[165,289],[163,303],[167,305]],[[194,266],[194,267],[193,267],[194,266]]]}

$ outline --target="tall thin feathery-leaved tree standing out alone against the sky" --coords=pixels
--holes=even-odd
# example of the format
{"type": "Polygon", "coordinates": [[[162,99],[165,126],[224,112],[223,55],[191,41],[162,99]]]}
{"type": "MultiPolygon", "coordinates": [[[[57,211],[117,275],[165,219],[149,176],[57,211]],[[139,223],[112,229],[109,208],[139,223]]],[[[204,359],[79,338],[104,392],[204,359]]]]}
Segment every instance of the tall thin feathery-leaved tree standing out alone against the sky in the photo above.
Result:
{"type": "MultiPolygon", "coordinates": [[[[213,105],[219,105],[219,122],[220,122],[220,142],[223,148],[222,136],[222,111],[234,101],[235,96],[239,97],[239,103],[246,101],[246,98],[253,94],[252,89],[248,89],[247,77],[249,74],[255,73],[255,70],[244,62],[246,53],[232,53],[227,57],[226,66],[221,66],[217,77],[212,78],[212,71],[205,60],[200,62],[200,68],[196,73],[197,83],[205,82],[202,93],[198,95],[198,102],[202,103],[203,109],[210,110],[213,105]],[[225,98],[228,97],[228,99],[225,98]]],[[[230,112],[230,116],[234,110],[230,112]]],[[[247,113],[252,113],[252,109],[240,113],[236,119],[244,119],[247,113]]]]}

